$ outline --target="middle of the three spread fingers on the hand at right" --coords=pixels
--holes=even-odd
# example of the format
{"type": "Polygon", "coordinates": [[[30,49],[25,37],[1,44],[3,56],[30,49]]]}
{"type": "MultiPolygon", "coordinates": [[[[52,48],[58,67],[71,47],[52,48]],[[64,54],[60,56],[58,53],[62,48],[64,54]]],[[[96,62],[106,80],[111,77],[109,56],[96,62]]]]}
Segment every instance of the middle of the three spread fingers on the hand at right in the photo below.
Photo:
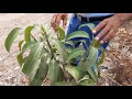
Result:
{"type": "Polygon", "coordinates": [[[108,34],[108,32],[110,31],[111,26],[110,25],[106,25],[106,28],[96,36],[96,40],[99,41],[101,40],[105,35],[108,34]]]}

